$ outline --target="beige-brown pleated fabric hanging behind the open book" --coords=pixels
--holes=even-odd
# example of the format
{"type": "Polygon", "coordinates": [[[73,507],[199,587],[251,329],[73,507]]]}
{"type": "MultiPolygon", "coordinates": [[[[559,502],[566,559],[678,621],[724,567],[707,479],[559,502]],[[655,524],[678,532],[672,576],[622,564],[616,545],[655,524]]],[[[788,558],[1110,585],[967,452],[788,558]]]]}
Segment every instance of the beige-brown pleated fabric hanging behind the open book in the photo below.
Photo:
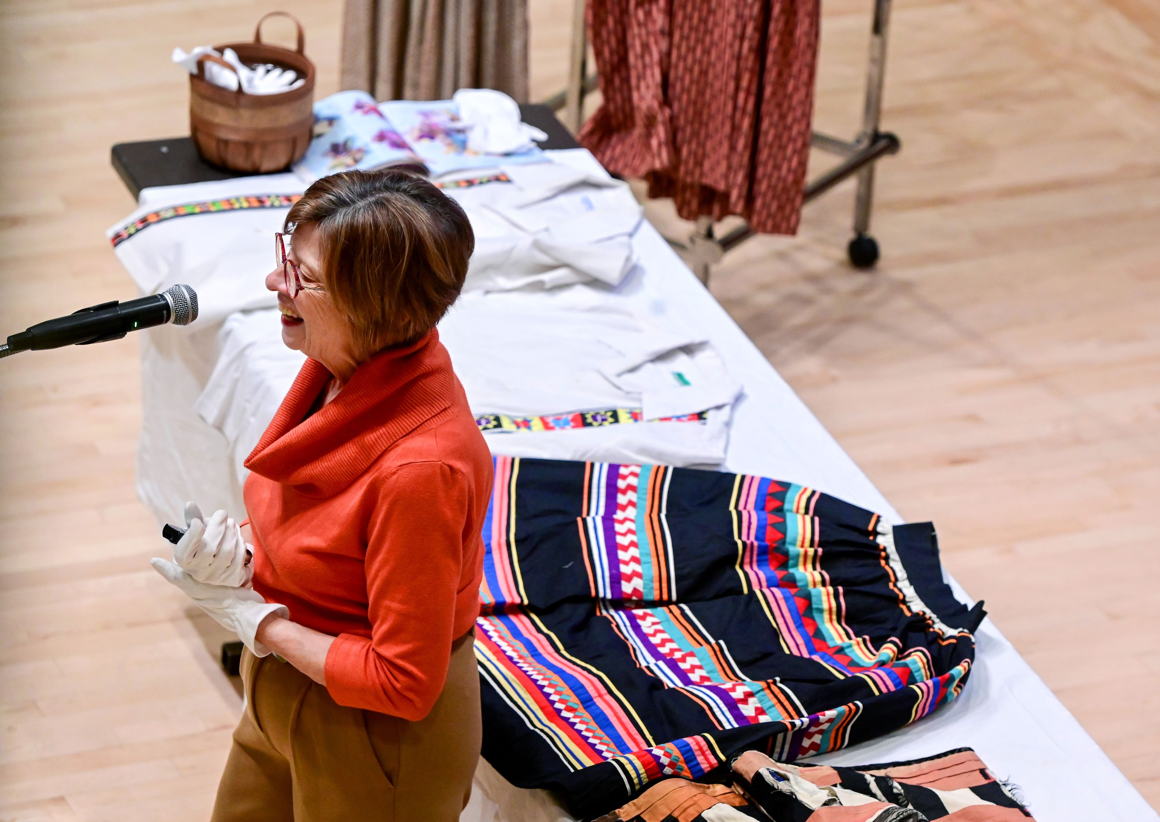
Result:
{"type": "Polygon", "coordinates": [[[445,100],[494,88],[528,100],[527,0],[346,0],[342,88],[445,100]]]}

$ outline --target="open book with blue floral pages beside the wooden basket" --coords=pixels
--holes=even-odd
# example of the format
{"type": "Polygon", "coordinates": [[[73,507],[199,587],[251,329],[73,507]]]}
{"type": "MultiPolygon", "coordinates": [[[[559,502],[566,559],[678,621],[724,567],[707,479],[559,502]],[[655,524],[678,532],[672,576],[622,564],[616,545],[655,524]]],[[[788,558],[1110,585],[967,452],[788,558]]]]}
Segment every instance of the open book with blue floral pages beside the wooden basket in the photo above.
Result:
{"type": "Polygon", "coordinates": [[[293,170],[307,182],[350,168],[396,166],[440,176],[544,159],[539,148],[516,154],[471,151],[454,100],[378,103],[367,92],[354,90],[314,103],[314,137],[293,170]]]}

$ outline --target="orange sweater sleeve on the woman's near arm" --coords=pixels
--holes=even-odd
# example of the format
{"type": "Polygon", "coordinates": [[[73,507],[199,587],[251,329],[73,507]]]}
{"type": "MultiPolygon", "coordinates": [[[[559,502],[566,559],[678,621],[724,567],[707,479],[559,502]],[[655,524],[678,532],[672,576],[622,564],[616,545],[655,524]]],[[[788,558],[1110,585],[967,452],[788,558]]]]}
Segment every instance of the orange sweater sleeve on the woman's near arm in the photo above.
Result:
{"type": "Polygon", "coordinates": [[[444,463],[399,466],[367,528],[371,639],[340,634],[326,655],[339,705],[418,721],[451,657],[467,523],[466,479],[444,463]]]}

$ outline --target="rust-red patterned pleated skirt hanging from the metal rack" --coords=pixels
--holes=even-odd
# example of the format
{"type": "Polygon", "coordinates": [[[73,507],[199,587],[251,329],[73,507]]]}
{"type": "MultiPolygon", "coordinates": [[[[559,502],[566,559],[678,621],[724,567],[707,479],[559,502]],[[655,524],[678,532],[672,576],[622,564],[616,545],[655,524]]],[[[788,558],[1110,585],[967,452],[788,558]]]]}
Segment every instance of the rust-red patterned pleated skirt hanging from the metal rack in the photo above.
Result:
{"type": "Polygon", "coordinates": [[[818,0],[589,0],[603,102],[580,143],[684,219],[795,233],[819,15],[818,0]]]}

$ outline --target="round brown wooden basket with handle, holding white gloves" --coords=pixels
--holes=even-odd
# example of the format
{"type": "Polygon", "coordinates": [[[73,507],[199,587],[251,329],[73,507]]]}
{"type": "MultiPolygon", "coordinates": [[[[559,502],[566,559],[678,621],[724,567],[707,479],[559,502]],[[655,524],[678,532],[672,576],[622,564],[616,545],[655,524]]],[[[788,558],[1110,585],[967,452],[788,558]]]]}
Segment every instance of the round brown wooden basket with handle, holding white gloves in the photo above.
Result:
{"type": "Polygon", "coordinates": [[[213,46],[233,49],[242,63],[274,63],[304,78],[292,92],[246,94],[215,86],[205,79],[205,61],[233,71],[225,60],[206,54],[198,60],[197,74],[189,77],[189,131],[198,153],[215,166],[235,172],[278,172],[302,159],[314,125],[314,64],[303,53],[306,41],[302,23],[285,12],[270,12],[258,21],[253,43],[213,46]],[[262,23],[280,15],[298,28],[298,49],[291,51],[262,43],[262,23]]]}

